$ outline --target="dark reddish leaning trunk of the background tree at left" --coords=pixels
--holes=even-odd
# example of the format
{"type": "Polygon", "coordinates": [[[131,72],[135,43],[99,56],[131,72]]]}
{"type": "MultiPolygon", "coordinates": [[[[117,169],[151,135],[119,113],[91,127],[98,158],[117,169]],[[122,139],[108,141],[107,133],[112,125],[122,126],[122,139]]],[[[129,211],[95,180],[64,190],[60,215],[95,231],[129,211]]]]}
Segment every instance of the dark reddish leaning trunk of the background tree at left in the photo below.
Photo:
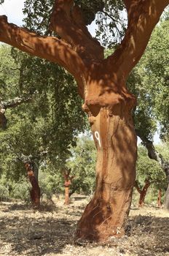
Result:
{"type": "Polygon", "coordinates": [[[29,178],[29,181],[31,182],[31,186],[32,186],[31,191],[30,191],[32,206],[33,206],[33,208],[39,208],[41,190],[39,187],[38,180],[35,176],[33,167],[30,163],[28,163],[28,162],[25,163],[25,169],[27,170],[28,178],[29,178]]]}

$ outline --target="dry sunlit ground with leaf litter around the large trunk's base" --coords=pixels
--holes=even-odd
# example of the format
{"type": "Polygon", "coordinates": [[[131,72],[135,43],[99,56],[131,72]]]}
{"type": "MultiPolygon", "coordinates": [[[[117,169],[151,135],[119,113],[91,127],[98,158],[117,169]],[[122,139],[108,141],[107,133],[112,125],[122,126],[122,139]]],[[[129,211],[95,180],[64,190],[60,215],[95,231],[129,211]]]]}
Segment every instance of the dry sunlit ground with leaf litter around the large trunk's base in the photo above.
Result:
{"type": "Polygon", "coordinates": [[[169,213],[162,208],[131,208],[127,234],[106,243],[74,243],[76,222],[87,198],[69,206],[54,198],[41,211],[24,203],[0,203],[0,255],[169,256],[169,213]]]}

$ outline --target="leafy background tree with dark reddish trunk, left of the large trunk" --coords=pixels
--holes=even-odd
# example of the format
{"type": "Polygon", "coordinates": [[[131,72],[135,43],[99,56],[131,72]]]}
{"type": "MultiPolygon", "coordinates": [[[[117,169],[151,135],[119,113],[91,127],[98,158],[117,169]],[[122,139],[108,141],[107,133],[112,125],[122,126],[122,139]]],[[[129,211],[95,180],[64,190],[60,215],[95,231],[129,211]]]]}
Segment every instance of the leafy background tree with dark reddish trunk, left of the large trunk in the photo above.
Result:
{"type": "MultiPolygon", "coordinates": [[[[3,50],[4,52],[7,50],[7,53],[9,53],[10,49],[3,46],[3,50]]],[[[34,94],[34,101],[31,101],[31,105],[29,106],[20,106],[20,108],[15,110],[6,111],[6,116],[10,116],[8,122],[9,128],[6,132],[1,133],[1,151],[5,156],[4,161],[6,161],[7,155],[11,154],[10,159],[12,162],[10,162],[10,165],[13,168],[13,173],[17,169],[17,178],[22,176],[24,171],[23,166],[21,167],[19,165],[18,167],[15,165],[16,159],[23,162],[23,165],[36,166],[34,168],[36,173],[33,169],[28,170],[28,177],[31,184],[35,185],[33,187],[34,191],[31,190],[31,194],[34,192],[31,198],[35,198],[35,194],[38,197],[40,195],[38,169],[39,165],[44,161],[44,153],[47,152],[48,157],[55,162],[61,162],[62,159],[68,157],[68,153],[71,154],[68,148],[70,148],[71,144],[76,145],[76,136],[79,131],[84,129],[84,121],[82,123],[76,121],[76,111],[80,116],[82,110],[81,105],[78,104],[76,104],[76,108],[72,108],[77,93],[74,80],[68,74],[66,75],[62,69],[58,69],[58,74],[56,74],[56,65],[47,63],[47,61],[41,61],[40,59],[30,58],[23,53],[18,53],[14,49],[12,49],[12,57],[9,55],[7,60],[11,60],[11,63],[15,60],[15,68],[12,67],[12,69],[15,72],[19,70],[20,74],[14,83],[12,80],[10,81],[10,72],[8,72],[8,76],[5,73],[3,76],[3,72],[1,72],[3,82],[7,84],[4,88],[6,97],[15,97],[18,94],[34,94]],[[39,69],[35,69],[36,66],[39,66],[39,69]],[[31,78],[31,74],[33,73],[34,80],[31,78]],[[12,83],[13,91],[7,91],[9,81],[12,83]],[[62,91],[62,99],[60,99],[58,94],[58,83],[62,86],[59,87],[62,91]],[[34,86],[31,86],[32,84],[34,86]],[[44,84],[46,84],[45,89],[44,84]],[[55,91],[54,96],[51,94],[51,91],[55,91]],[[69,98],[66,97],[67,94],[69,98]],[[62,114],[60,113],[60,106],[64,110],[62,114]],[[66,129],[63,129],[64,127],[66,129]],[[7,150],[4,150],[6,147],[3,144],[4,141],[7,143],[7,150]],[[37,181],[37,183],[32,181],[33,176],[30,176],[31,173],[36,177],[34,181],[37,181]]],[[[4,63],[4,70],[10,70],[11,66],[9,63],[4,63]]],[[[13,77],[15,78],[15,76],[13,77]]],[[[3,94],[1,96],[3,97],[3,94]]],[[[14,108],[28,100],[29,98],[15,97],[15,99],[1,102],[1,105],[6,110],[9,107],[14,108]]],[[[80,100],[79,103],[81,103],[80,100]]],[[[39,205],[39,198],[36,198],[36,202],[39,205]]],[[[33,203],[35,204],[35,202],[33,203]]]]}

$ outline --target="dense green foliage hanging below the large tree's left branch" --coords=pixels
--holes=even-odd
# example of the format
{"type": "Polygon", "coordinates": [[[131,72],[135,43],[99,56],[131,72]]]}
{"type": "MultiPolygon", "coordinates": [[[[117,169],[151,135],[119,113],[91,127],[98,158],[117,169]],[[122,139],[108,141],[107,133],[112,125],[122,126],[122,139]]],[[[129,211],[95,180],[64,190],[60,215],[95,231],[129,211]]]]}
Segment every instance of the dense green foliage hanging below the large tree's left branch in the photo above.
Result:
{"type": "Polygon", "coordinates": [[[50,197],[52,193],[63,192],[60,167],[71,156],[71,147],[76,146],[77,135],[86,127],[82,101],[73,78],[58,65],[15,49],[12,49],[11,56],[10,50],[4,46],[0,48],[3,57],[7,51],[7,60],[4,58],[1,72],[7,86],[1,97],[11,99],[18,94],[21,97],[31,94],[32,100],[31,104],[6,111],[7,130],[0,132],[0,170],[5,174],[6,181],[11,180],[15,184],[12,185],[11,196],[27,198],[23,183],[18,184],[20,178],[27,176],[20,157],[31,157],[38,167],[50,162],[45,170],[49,173],[44,172],[43,178],[39,176],[42,193],[50,197]],[[12,77],[11,69],[15,71],[12,77]],[[11,90],[8,90],[9,82],[12,83],[11,90]],[[50,174],[50,165],[55,175],[50,174]]]}

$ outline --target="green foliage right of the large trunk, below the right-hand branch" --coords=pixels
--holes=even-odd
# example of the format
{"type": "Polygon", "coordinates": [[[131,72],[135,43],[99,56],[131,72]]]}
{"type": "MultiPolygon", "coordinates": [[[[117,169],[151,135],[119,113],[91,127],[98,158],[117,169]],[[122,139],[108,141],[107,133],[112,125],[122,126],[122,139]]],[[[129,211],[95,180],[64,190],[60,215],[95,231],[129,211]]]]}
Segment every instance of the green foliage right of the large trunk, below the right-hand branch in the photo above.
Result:
{"type": "Polygon", "coordinates": [[[168,140],[169,135],[169,21],[162,20],[154,29],[149,45],[141,61],[133,69],[127,86],[138,98],[135,109],[135,129],[152,139],[157,124],[160,137],[168,140]]]}

